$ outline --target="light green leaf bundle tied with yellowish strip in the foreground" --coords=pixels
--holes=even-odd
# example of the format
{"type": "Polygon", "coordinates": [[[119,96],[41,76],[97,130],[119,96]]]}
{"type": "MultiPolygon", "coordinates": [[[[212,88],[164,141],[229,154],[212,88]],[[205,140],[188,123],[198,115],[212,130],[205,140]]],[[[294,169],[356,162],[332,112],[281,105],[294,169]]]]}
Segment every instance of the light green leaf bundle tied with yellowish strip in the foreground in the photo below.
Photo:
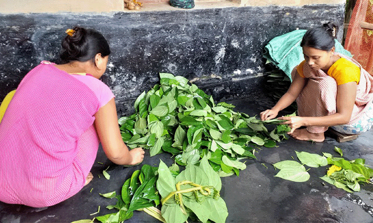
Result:
{"type": "Polygon", "coordinates": [[[162,216],[166,222],[184,223],[195,216],[203,223],[208,220],[225,223],[228,211],[219,195],[221,180],[206,157],[199,166],[187,165],[177,176],[161,161],[157,188],[162,196],[162,216]]]}

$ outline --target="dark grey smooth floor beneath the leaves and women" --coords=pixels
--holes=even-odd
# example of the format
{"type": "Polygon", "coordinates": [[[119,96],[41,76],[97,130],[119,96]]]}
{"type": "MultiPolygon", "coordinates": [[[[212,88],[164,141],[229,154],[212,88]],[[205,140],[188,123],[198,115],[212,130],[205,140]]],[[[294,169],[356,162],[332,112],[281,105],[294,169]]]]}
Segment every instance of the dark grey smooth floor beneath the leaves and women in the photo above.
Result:
{"type": "MultiPolygon", "coordinates": [[[[271,100],[254,98],[230,102],[237,110],[253,116],[267,109],[271,100]],[[260,103],[258,103],[260,102],[260,103]]],[[[334,146],[343,150],[344,158],[366,159],[373,166],[373,130],[361,134],[354,141],[338,143],[327,137],[322,143],[311,143],[289,139],[278,144],[277,148],[263,148],[256,153],[257,160],[247,160],[247,168],[240,176],[222,178],[221,196],[228,208],[227,223],[372,223],[373,222],[373,186],[365,185],[360,192],[347,193],[332,185],[324,184],[326,167],[311,168],[310,179],[296,183],[274,177],[278,172],[272,164],[290,160],[296,151],[322,154],[328,152],[337,156],[334,146]]],[[[148,151],[143,164],[158,166],[159,159],[167,165],[173,160],[169,154],[149,157],[148,151]]],[[[93,219],[90,214],[101,207],[100,215],[110,211],[104,207],[115,204],[114,199],[101,197],[98,193],[120,191],[124,181],[135,169],[141,167],[122,167],[113,165],[99,149],[97,162],[92,172],[93,181],[72,198],[48,208],[30,208],[21,205],[7,205],[0,202],[1,223],[68,223],[81,219],[93,219]],[[108,166],[110,180],[102,176],[102,170],[108,166]],[[101,175],[98,178],[98,174],[101,175]],[[93,188],[93,189],[92,189],[93,188]],[[91,192],[92,190],[92,192],[91,192]]],[[[156,223],[144,212],[135,212],[128,223],[156,223]]]]}

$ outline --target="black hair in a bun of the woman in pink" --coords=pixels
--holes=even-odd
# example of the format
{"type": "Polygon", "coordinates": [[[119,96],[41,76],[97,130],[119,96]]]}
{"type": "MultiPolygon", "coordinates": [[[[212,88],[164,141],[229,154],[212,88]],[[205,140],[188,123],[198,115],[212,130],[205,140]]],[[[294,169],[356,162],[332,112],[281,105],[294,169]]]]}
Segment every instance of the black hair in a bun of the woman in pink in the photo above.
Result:
{"type": "Polygon", "coordinates": [[[62,63],[75,60],[81,62],[92,60],[94,63],[96,54],[101,54],[101,56],[110,54],[109,45],[99,32],[78,26],[75,26],[73,30],[62,41],[63,51],[60,55],[62,63]]]}

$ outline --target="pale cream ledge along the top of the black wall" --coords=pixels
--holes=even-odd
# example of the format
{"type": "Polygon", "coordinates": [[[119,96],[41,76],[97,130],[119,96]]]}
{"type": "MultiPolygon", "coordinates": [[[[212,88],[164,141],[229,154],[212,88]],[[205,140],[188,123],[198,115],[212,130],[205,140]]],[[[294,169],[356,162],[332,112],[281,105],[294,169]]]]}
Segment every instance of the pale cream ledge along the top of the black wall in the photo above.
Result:
{"type": "MultiPolygon", "coordinates": [[[[174,11],[241,6],[302,6],[307,4],[345,4],[346,0],[195,0],[193,9],[172,7],[169,0],[138,0],[143,3],[139,11],[174,11]]],[[[119,12],[123,0],[0,0],[0,13],[46,13],[46,12],[119,12]]]]}

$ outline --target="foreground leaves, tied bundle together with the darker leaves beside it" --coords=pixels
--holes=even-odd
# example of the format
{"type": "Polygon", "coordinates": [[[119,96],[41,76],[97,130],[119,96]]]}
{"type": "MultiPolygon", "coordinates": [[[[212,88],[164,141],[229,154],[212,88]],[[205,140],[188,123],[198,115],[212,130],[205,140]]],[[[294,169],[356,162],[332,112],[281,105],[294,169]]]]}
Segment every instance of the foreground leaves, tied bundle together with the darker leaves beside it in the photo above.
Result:
{"type": "Polygon", "coordinates": [[[117,211],[95,219],[102,223],[121,223],[132,218],[133,211],[137,210],[145,211],[163,223],[184,223],[188,218],[203,223],[208,220],[224,223],[228,211],[220,197],[220,189],[220,177],[206,157],[201,159],[199,166],[189,164],[180,173],[178,165],[167,167],[160,161],[159,168],[144,165],[141,170],[134,171],[124,182],[121,196],[115,191],[100,194],[105,198],[115,197],[117,203],[106,208],[117,211]],[[156,208],[161,201],[162,212],[156,208]]]}

